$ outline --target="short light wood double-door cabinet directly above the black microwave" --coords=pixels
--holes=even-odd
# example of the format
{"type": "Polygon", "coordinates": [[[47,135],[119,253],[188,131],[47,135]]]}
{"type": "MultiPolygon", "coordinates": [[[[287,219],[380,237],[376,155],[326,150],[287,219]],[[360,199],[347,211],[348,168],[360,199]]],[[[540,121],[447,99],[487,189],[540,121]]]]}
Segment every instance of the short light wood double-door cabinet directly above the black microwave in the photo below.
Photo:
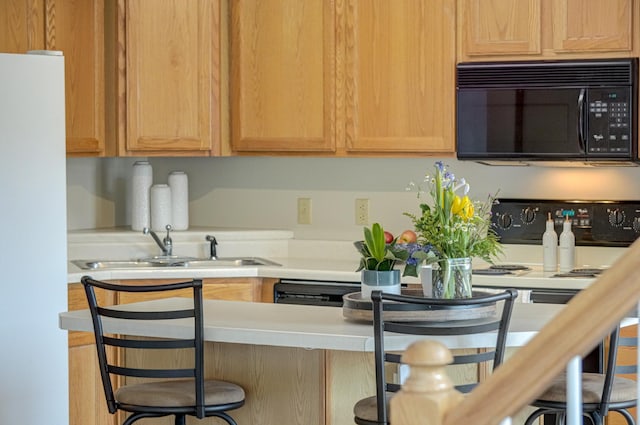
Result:
{"type": "Polygon", "coordinates": [[[635,56],[639,7],[633,0],[458,0],[458,59],[635,56]]]}

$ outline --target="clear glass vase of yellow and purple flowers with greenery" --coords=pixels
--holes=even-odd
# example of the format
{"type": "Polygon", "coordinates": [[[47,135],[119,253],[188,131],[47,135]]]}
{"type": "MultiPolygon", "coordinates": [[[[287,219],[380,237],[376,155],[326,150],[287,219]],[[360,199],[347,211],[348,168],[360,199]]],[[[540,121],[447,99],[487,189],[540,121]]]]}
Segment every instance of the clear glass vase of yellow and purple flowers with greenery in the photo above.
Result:
{"type": "MultiPolygon", "coordinates": [[[[491,205],[473,202],[467,195],[469,184],[457,179],[441,161],[435,163],[435,175],[427,176],[432,204],[420,204],[420,214],[405,213],[413,221],[418,242],[429,244],[435,254],[433,296],[468,298],[472,296],[471,261],[473,257],[493,263],[502,252],[491,228],[491,205]]],[[[418,198],[422,191],[418,188],[418,198]]]]}

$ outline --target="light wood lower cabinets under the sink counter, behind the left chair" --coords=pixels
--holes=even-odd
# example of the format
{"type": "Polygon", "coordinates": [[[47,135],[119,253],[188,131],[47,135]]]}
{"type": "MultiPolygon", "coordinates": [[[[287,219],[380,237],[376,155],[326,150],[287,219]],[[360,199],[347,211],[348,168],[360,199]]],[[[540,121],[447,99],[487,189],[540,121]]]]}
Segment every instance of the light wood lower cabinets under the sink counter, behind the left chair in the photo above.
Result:
{"type": "MultiPolygon", "coordinates": [[[[149,285],[183,280],[185,279],[137,279],[120,281],[120,283],[149,285]]],[[[203,296],[205,299],[272,302],[275,281],[275,279],[260,278],[203,279],[203,296]]],[[[152,299],[149,294],[126,294],[116,299],[113,293],[106,291],[97,291],[96,296],[110,305],[152,299]]],[[[180,293],[174,293],[171,296],[180,296],[180,293]]],[[[69,311],[88,308],[82,284],[68,285],[68,308],[69,311]]],[[[246,353],[238,353],[238,355],[241,354],[246,355],[246,353]]],[[[211,356],[213,358],[213,354],[211,356]]],[[[277,360],[277,357],[273,359],[274,362],[277,360]]],[[[279,361],[288,362],[284,358],[279,361]]],[[[305,363],[302,360],[301,362],[305,363]]],[[[220,363],[220,365],[225,364],[220,363]]],[[[261,365],[256,367],[259,368],[261,365]]],[[[319,388],[319,386],[316,387],[319,388]]],[[[107,409],[93,335],[89,332],[69,332],[69,425],[117,425],[122,423],[120,415],[111,415],[107,409]]],[[[252,423],[252,421],[239,423],[252,423]]]]}

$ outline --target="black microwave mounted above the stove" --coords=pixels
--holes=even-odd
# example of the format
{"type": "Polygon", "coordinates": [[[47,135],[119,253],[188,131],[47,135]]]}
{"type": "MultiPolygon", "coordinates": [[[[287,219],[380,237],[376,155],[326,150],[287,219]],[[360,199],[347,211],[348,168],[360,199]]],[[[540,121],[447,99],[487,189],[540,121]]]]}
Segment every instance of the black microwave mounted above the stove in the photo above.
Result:
{"type": "Polygon", "coordinates": [[[638,160],[638,58],[460,63],[458,159],[638,160]]]}

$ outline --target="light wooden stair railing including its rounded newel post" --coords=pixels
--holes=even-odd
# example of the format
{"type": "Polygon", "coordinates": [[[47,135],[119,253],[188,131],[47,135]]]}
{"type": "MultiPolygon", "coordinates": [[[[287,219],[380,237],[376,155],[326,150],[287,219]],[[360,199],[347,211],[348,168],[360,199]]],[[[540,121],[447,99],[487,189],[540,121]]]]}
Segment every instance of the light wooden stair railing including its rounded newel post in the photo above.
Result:
{"type": "Polygon", "coordinates": [[[463,399],[440,376],[447,363],[441,348],[412,346],[405,352],[409,378],[391,400],[391,423],[496,425],[542,393],[570,359],[587,354],[639,299],[640,240],[463,399]]]}

